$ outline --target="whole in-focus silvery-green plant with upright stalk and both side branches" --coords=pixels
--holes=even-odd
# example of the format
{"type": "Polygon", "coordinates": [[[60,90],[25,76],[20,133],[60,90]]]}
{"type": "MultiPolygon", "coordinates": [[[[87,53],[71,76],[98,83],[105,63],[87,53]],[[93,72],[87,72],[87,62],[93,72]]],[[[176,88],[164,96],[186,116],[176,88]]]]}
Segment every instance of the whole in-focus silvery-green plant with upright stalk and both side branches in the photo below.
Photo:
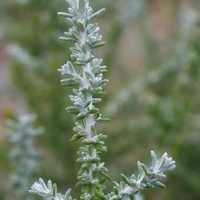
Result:
{"type": "MultiPolygon", "coordinates": [[[[71,47],[71,61],[64,64],[58,71],[62,75],[61,83],[65,86],[73,86],[73,94],[69,96],[72,106],[66,110],[75,115],[75,134],[72,141],[80,140],[82,146],[78,151],[77,162],[81,167],[78,172],[78,185],[81,186],[80,199],[83,200],[129,200],[136,199],[136,194],[144,188],[165,187],[162,179],[166,173],[175,168],[175,161],[164,153],[157,158],[152,151],[152,165],[147,167],[138,162],[138,175],[127,177],[121,174],[120,183],[114,181],[112,192],[105,194],[104,182],[110,179],[101,161],[100,154],[107,151],[104,139],[106,136],[98,133],[96,124],[107,122],[103,118],[96,104],[101,102],[104,94],[103,88],[108,82],[103,73],[106,66],[102,65],[102,59],[95,58],[92,50],[104,45],[99,35],[97,23],[91,20],[102,14],[105,9],[93,12],[89,0],[66,0],[69,4],[68,12],[58,12],[72,24],[72,28],[65,32],[61,40],[75,43],[71,47]]],[[[44,200],[72,200],[70,189],[63,195],[57,192],[57,185],[52,181],[47,184],[42,178],[35,182],[29,192],[38,194],[44,200]]]]}

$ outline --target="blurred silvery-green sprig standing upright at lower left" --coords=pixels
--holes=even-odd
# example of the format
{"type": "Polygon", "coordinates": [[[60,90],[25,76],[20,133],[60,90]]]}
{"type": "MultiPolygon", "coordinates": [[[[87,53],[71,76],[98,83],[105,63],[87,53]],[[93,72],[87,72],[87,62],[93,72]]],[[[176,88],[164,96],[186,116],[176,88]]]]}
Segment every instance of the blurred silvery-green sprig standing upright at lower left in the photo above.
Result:
{"type": "Polygon", "coordinates": [[[35,141],[43,133],[43,128],[34,128],[35,121],[35,114],[19,115],[17,120],[7,121],[9,141],[13,146],[9,155],[11,184],[14,191],[26,200],[32,199],[27,191],[39,169],[35,141]]]}

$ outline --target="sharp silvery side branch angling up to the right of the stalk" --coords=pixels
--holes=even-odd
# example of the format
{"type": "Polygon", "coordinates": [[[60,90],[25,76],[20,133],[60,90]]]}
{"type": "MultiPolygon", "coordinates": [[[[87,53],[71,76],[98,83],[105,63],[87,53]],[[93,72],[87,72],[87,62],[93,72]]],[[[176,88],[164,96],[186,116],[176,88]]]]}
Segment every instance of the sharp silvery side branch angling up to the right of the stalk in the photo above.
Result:
{"type": "Polygon", "coordinates": [[[151,151],[152,165],[147,168],[145,164],[138,161],[138,175],[131,175],[130,178],[121,174],[122,181],[114,182],[114,192],[108,199],[135,199],[135,195],[145,188],[165,187],[161,179],[166,177],[166,173],[172,171],[175,161],[164,153],[161,158],[157,158],[154,151],[151,151]]]}

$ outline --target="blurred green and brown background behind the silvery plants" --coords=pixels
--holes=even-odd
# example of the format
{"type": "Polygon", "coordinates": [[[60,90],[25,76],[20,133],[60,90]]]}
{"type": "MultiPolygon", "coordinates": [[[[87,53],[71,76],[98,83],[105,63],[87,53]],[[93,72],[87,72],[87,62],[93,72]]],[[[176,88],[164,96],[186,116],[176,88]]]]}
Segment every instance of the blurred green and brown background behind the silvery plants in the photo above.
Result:
{"type": "MultiPolygon", "coordinates": [[[[94,0],[95,19],[107,45],[95,50],[108,66],[102,115],[112,122],[103,155],[112,179],[136,172],[136,162],[150,163],[150,151],[165,151],[177,168],[166,189],[145,191],[148,200],[200,199],[200,1],[94,0]]],[[[40,168],[35,176],[71,187],[74,198],[78,143],[70,143],[73,117],[70,92],[60,86],[57,69],[69,59],[70,44],[58,41],[69,25],[57,16],[64,0],[0,1],[0,200],[23,198],[10,184],[12,171],[7,119],[36,113],[40,168]],[[12,196],[13,195],[13,196],[12,196]]],[[[110,191],[113,184],[107,183],[110,191]]]]}

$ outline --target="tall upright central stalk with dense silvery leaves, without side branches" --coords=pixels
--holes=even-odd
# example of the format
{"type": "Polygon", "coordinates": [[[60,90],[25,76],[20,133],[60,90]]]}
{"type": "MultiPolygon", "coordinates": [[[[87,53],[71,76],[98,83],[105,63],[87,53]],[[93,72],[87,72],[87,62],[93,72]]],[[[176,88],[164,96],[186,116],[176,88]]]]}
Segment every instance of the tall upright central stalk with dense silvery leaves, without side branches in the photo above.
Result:
{"type": "Polygon", "coordinates": [[[59,71],[63,75],[61,82],[66,86],[75,86],[70,100],[73,106],[67,110],[76,115],[75,135],[72,141],[81,140],[84,144],[80,147],[79,159],[81,168],[78,172],[79,184],[83,186],[81,199],[103,198],[103,182],[108,178],[107,169],[101,162],[99,154],[106,152],[104,145],[105,135],[98,133],[95,124],[98,121],[107,121],[95,104],[101,101],[100,96],[107,80],[103,77],[106,71],[101,66],[102,60],[95,58],[91,51],[102,46],[101,36],[98,34],[98,24],[90,23],[95,16],[104,12],[104,9],[93,13],[89,1],[68,1],[69,13],[58,14],[68,19],[73,27],[60,39],[75,42],[71,48],[72,62],[68,61],[59,71]]]}

